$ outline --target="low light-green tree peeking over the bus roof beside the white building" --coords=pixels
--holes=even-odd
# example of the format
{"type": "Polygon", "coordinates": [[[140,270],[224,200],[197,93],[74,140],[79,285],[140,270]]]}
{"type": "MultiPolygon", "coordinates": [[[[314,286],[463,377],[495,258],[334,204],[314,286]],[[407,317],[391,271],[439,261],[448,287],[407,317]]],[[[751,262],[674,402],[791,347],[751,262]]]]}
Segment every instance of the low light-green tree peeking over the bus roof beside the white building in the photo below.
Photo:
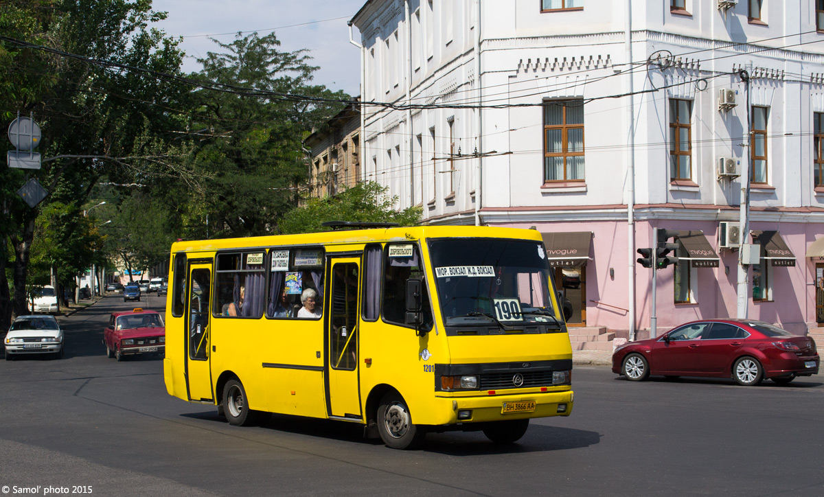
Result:
{"type": "Polygon", "coordinates": [[[279,230],[283,234],[322,232],[329,229],[321,226],[327,221],[419,224],[423,209],[409,207],[397,211],[398,198],[386,195],[388,190],[388,186],[366,181],[334,197],[310,199],[305,206],[287,213],[278,225],[279,230]]]}

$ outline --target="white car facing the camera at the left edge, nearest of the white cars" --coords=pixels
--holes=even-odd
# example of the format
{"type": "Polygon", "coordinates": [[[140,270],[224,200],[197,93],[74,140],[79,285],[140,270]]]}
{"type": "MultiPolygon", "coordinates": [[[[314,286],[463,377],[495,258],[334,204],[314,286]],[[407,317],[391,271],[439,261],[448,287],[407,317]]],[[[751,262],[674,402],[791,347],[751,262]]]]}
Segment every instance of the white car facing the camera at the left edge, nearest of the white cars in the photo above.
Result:
{"type": "Polygon", "coordinates": [[[53,316],[17,316],[3,340],[6,360],[16,355],[53,354],[63,357],[63,330],[53,316]]]}

